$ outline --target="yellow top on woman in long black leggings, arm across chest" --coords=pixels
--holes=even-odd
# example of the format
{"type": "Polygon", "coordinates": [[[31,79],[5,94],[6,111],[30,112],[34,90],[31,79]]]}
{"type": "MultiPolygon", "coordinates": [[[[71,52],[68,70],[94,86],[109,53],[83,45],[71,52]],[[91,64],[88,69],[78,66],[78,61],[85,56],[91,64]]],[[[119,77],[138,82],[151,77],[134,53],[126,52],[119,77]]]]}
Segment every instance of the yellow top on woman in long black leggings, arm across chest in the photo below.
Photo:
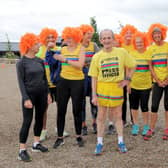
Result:
{"type": "MultiPolygon", "coordinates": [[[[61,54],[70,61],[78,61],[79,60],[79,54],[81,51],[81,45],[79,44],[75,51],[69,52],[67,49],[67,46],[63,47],[61,50],[61,54]]],[[[82,71],[82,68],[76,68],[73,67],[70,64],[67,64],[65,62],[61,63],[62,69],[60,76],[64,79],[69,80],[82,80],[84,79],[84,74],[82,71]]]]}

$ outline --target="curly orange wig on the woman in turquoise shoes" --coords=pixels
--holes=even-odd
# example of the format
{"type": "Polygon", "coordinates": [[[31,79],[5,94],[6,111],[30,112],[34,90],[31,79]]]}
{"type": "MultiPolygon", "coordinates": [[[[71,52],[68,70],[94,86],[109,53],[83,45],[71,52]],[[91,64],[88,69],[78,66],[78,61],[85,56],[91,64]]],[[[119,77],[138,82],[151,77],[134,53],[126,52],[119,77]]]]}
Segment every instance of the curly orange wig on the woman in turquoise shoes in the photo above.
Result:
{"type": "Polygon", "coordinates": [[[141,38],[142,41],[144,42],[144,47],[145,49],[147,48],[147,46],[149,45],[149,41],[148,41],[148,38],[147,38],[147,34],[146,33],[142,33],[142,32],[136,32],[134,35],[133,35],[133,39],[132,39],[132,44],[134,46],[135,49],[136,48],[136,43],[135,43],[135,40],[136,38],[141,38]]]}

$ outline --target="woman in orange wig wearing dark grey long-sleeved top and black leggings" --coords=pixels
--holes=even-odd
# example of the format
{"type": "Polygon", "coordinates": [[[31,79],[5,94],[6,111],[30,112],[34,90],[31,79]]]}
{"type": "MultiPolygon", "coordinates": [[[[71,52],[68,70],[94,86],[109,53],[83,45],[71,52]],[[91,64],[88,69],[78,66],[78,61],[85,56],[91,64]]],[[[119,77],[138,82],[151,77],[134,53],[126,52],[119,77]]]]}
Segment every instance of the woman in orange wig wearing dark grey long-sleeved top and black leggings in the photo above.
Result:
{"type": "Polygon", "coordinates": [[[20,52],[22,58],[17,62],[17,77],[22,95],[23,123],[20,129],[20,150],[18,159],[28,162],[31,157],[26,150],[29,128],[35,109],[34,143],[32,151],[48,152],[48,148],[40,143],[43,127],[43,115],[47,104],[51,103],[43,61],[35,55],[39,51],[39,39],[33,33],[21,37],[20,52]]]}

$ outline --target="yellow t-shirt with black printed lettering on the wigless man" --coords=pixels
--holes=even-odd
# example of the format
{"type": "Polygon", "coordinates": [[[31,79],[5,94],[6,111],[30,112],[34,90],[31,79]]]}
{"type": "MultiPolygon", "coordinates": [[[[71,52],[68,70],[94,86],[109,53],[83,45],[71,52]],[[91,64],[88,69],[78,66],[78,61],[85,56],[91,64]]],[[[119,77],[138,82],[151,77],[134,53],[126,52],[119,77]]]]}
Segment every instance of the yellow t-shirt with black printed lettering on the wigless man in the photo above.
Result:
{"type": "Polygon", "coordinates": [[[101,50],[93,56],[89,75],[99,82],[119,82],[124,79],[125,67],[135,66],[135,59],[125,49],[114,47],[111,52],[101,50]]]}

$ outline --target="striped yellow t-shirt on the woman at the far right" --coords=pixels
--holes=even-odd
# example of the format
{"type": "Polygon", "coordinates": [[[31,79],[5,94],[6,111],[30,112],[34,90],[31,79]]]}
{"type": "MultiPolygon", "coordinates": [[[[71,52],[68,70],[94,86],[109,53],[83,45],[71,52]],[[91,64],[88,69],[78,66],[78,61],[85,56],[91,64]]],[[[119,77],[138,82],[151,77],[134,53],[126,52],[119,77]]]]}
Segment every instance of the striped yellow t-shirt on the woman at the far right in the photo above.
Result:
{"type": "Polygon", "coordinates": [[[168,43],[165,42],[162,46],[153,44],[147,51],[157,78],[164,81],[168,78],[168,43]]]}

